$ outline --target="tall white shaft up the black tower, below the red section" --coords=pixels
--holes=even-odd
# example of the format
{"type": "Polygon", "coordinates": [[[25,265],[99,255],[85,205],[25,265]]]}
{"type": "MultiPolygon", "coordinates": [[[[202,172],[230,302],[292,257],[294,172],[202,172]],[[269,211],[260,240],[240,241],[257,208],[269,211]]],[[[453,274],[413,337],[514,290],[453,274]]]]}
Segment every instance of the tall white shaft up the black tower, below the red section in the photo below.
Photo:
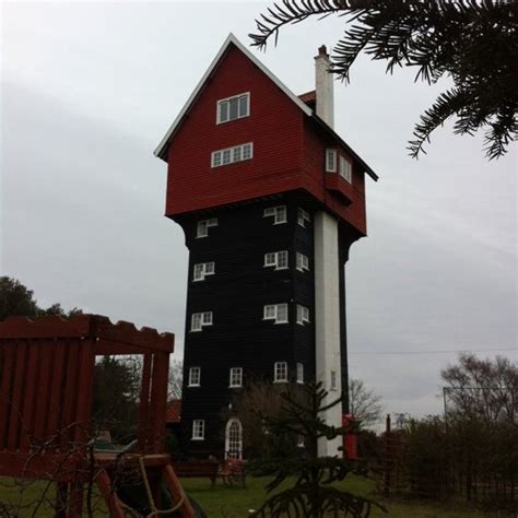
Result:
{"type": "MultiPolygon", "coordinates": [[[[327,212],[315,214],[315,331],[316,378],[329,391],[328,400],[341,395],[340,362],[340,261],[338,221],[327,212]],[[331,390],[331,372],[335,373],[335,390],[331,390]]],[[[342,425],[342,405],[327,410],[322,419],[328,425],[342,425]]],[[[341,456],[343,439],[320,439],[318,455],[341,456]]]]}

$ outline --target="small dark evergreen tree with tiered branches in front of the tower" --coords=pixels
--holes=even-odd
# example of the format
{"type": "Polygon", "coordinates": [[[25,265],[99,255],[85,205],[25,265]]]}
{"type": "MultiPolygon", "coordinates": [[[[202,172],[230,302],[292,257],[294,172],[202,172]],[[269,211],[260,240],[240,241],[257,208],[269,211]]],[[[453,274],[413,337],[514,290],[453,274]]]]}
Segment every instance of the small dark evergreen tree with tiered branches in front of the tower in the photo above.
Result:
{"type": "Polygon", "coordinates": [[[321,518],[328,513],[334,517],[367,517],[373,506],[385,510],[376,502],[342,490],[333,482],[341,482],[350,473],[365,474],[364,470],[351,460],[338,457],[319,457],[318,442],[343,437],[343,427],[326,424],[321,413],[342,402],[342,397],[328,402],[328,392],[322,384],[307,384],[303,397],[287,391],[282,395],[284,408],[282,416],[261,414],[264,429],[272,435],[292,437],[304,442],[304,455],[286,459],[274,458],[257,461],[251,468],[262,474],[273,474],[267,485],[271,493],[290,475],[295,475],[293,487],[270,496],[252,516],[258,518],[321,518]]]}

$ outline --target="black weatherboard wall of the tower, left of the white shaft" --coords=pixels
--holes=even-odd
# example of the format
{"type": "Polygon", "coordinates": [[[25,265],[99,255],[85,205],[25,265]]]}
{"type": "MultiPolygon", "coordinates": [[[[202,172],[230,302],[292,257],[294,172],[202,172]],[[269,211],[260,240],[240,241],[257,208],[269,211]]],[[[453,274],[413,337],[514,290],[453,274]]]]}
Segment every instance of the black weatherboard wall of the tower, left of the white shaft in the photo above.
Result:
{"type": "Polygon", "coordinates": [[[273,381],[274,362],[287,362],[290,380],[295,382],[296,363],[304,364],[307,379],[315,373],[315,328],[313,271],[295,269],[295,252],[309,257],[313,264],[313,223],[297,224],[295,196],[258,201],[233,210],[220,209],[200,217],[183,220],[189,247],[189,284],[185,340],[184,436],[193,456],[221,455],[222,412],[239,393],[228,388],[229,368],[242,367],[244,381],[264,378],[273,381]],[[263,217],[267,207],[286,204],[287,223],[274,225],[263,217]],[[196,238],[199,219],[217,217],[209,236],[196,238]],[[289,250],[290,268],[263,267],[264,254],[289,250]],[[193,264],[214,261],[215,273],[192,281],[193,264]],[[267,304],[289,304],[289,323],[263,320],[267,304]],[[310,309],[310,322],[296,323],[296,304],[310,309]],[[190,331],[192,313],[213,311],[213,325],[190,331]],[[188,387],[188,370],[201,367],[201,386],[188,387]],[[205,420],[205,440],[191,440],[192,421],[205,420]]]}

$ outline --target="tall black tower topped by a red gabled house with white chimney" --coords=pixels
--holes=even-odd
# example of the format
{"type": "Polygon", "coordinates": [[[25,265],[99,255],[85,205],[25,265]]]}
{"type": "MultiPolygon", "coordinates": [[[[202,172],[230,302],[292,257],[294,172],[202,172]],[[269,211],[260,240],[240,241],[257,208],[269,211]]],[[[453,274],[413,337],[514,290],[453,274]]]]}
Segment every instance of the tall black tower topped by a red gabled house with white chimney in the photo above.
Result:
{"type": "MultiPolygon", "coordinates": [[[[329,56],[293,94],[229,35],[155,151],[189,248],[181,421],[192,456],[240,457],[222,422],[247,379],[348,387],[344,266],[367,164],[333,130],[329,56]]],[[[346,404],[345,404],[346,405],[346,404]]],[[[327,411],[340,425],[342,411],[327,411]]],[[[340,440],[322,442],[321,455],[340,440]]]]}

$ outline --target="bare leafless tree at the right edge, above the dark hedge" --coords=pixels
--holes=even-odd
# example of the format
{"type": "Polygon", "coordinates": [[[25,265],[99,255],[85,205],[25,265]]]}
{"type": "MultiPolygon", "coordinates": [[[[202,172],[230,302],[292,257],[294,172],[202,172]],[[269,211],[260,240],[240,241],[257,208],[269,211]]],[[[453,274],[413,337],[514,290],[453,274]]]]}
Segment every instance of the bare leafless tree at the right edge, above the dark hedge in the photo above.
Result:
{"type": "Polygon", "coordinates": [[[480,360],[461,354],[457,365],[440,372],[447,413],[462,413],[487,422],[516,423],[518,365],[509,358],[480,360]]]}

